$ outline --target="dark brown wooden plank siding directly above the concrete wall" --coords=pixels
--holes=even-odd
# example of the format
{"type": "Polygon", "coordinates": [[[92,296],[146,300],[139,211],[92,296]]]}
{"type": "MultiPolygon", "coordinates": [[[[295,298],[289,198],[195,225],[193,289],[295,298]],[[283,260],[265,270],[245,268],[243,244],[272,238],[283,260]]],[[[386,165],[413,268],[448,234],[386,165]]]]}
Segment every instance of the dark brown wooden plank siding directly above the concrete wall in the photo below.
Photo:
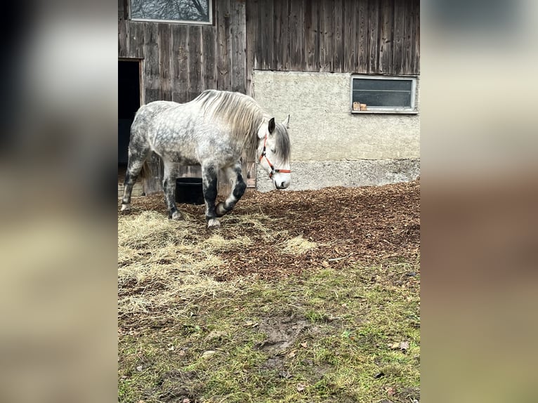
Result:
{"type": "Polygon", "coordinates": [[[419,0],[249,0],[247,68],[419,74],[419,5],[419,0]]]}

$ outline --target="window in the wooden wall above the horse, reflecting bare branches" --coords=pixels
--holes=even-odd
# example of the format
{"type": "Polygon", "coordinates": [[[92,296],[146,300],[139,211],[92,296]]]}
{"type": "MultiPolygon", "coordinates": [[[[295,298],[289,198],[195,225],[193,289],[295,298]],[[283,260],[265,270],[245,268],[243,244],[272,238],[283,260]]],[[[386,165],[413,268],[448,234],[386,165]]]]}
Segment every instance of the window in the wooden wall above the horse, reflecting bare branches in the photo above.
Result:
{"type": "Polygon", "coordinates": [[[211,24],[212,0],[130,0],[131,20],[211,24]]]}

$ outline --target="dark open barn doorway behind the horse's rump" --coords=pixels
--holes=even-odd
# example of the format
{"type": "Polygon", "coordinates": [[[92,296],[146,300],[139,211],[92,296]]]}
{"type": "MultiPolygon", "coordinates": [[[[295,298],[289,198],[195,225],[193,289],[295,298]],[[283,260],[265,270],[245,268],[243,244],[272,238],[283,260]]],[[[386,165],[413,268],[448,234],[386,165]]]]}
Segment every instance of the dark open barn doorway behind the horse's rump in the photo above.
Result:
{"type": "Polygon", "coordinates": [[[127,147],[134,115],[140,107],[140,62],[118,61],[118,168],[127,166],[127,147]]]}

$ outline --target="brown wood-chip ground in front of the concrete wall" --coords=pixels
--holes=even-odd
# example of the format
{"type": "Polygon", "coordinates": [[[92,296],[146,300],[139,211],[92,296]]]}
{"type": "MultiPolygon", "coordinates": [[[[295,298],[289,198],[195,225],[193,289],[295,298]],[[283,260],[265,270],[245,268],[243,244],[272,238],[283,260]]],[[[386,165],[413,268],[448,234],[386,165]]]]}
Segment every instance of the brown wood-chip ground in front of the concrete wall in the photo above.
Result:
{"type": "MultiPolygon", "coordinates": [[[[221,199],[221,197],[219,197],[221,199]]],[[[133,208],[166,215],[162,194],[133,199],[133,208]]],[[[204,206],[178,204],[178,209],[204,222],[204,206]]],[[[322,190],[248,191],[217,230],[223,238],[244,235],[254,242],[242,253],[223,252],[229,265],[221,267],[219,280],[256,274],[273,277],[298,274],[310,265],[339,268],[353,262],[379,263],[391,258],[414,258],[420,247],[420,183],[380,187],[328,187],[322,190]],[[262,213],[263,225],[233,225],[237,216],[262,213]],[[226,228],[233,228],[233,233],[226,228]],[[279,253],[275,239],[265,231],[282,234],[282,242],[301,236],[317,248],[295,256],[279,253]]],[[[209,232],[209,230],[208,230],[209,232]]],[[[278,239],[276,240],[278,242],[278,239]]]]}

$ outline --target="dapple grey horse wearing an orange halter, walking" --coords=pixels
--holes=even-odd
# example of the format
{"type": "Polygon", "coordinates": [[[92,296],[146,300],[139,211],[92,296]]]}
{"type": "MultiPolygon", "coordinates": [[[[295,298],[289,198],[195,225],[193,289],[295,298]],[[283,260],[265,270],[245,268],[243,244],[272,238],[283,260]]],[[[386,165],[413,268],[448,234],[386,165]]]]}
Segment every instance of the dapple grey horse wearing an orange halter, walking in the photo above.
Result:
{"type": "Polygon", "coordinates": [[[218,227],[218,217],[232,211],[247,184],[241,155],[257,154],[277,189],[289,186],[289,115],[275,123],[256,103],[241,93],[208,90],[188,103],[155,101],[140,107],[131,125],[129,161],[125,175],[122,212],[131,211],[131,191],[147,157],[155,152],[164,163],[164,199],[169,218],[179,220],[174,166],[202,166],[202,190],[208,227],[218,227]],[[215,205],[217,174],[223,169],[233,180],[232,192],[215,205]]]}

